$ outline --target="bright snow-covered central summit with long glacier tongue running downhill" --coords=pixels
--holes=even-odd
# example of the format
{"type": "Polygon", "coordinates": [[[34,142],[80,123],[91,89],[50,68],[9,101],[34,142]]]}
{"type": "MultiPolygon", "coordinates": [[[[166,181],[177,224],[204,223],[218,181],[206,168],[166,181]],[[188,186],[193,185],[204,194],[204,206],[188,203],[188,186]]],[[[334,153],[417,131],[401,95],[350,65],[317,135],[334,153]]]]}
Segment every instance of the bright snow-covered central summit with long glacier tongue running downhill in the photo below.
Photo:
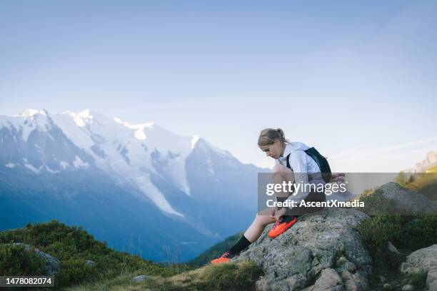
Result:
{"type": "Polygon", "coordinates": [[[55,123],[79,148],[96,161],[96,166],[113,174],[120,182],[139,188],[161,210],[181,215],[151,183],[154,154],[168,157],[168,182],[189,195],[184,168],[192,149],[192,138],[182,138],[154,123],[130,124],[119,118],[106,118],[99,113],[66,111],[54,116],[55,123]]]}

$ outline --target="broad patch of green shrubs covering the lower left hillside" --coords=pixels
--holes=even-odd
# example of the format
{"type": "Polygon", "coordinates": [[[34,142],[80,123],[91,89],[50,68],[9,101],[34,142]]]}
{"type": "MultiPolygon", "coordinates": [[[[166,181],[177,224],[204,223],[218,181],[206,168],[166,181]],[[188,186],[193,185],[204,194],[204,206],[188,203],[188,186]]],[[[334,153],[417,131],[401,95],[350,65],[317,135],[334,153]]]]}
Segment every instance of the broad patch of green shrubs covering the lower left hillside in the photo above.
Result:
{"type": "MultiPolygon", "coordinates": [[[[22,242],[56,257],[61,261],[61,271],[55,279],[59,287],[68,287],[82,282],[105,280],[123,272],[139,272],[146,275],[168,277],[193,267],[174,265],[165,267],[137,255],[117,252],[106,243],[95,240],[82,228],[69,227],[57,220],[49,223],[28,224],[19,228],[0,232],[0,245],[22,242]],[[86,265],[85,260],[92,260],[94,266],[86,265]]],[[[11,270],[9,275],[36,274],[39,268],[30,254],[17,256],[11,251],[0,250],[0,270],[11,270]],[[11,257],[16,256],[14,260],[11,257]],[[11,267],[13,266],[13,268],[11,267]]],[[[36,261],[35,261],[36,262],[36,261]]]]}

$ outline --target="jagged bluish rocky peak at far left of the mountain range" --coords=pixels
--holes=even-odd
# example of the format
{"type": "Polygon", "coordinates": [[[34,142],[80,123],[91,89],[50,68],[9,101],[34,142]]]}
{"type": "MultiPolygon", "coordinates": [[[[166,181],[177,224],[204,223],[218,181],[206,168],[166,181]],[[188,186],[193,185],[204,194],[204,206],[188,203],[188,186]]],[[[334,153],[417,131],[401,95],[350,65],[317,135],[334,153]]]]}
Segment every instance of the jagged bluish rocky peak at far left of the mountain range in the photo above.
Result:
{"type": "Polygon", "coordinates": [[[76,147],[46,111],[26,110],[19,116],[0,116],[0,158],[6,168],[41,172],[89,168],[94,159],[76,147]]]}

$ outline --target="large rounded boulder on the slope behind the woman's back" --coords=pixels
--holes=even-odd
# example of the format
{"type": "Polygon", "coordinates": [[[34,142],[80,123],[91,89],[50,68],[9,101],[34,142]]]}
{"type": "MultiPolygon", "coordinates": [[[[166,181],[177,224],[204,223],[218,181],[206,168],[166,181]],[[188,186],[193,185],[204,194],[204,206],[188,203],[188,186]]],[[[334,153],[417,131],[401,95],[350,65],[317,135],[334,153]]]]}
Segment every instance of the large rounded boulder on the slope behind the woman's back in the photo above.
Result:
{"type": "Polygon", "coordinates": [[[425,195],[407,188],[398,183],[386,183],[375,190],[373,195],[382,195],[383,198],[393,200],[393,206],[388,213],[402,215],[427,215],[437,213],[436,204],[425,195]]]}

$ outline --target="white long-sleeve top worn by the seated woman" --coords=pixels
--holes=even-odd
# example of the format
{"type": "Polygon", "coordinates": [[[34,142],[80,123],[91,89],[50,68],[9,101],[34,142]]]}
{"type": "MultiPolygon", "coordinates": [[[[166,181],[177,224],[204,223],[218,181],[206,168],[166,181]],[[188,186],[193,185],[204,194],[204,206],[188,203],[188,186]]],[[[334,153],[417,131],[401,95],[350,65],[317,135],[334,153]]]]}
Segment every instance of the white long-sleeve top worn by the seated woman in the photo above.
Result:
{"type": "MultiPolygon", "coordinates": [[[[317,163],[307,155],[303,150],[308,150],[308,146],[304,143],[292,142],[286,143],[286,148],[283,150],[283,155],[275,160],[276,165],[280,163],[281,165],[287,165],[287,156],[288,163],[290,163],[290,167],[294,173],[294,183],[323,183],[323,178],[321,175],[309,175],[308,173],[321,173],[320,168],[317,163]]],[[[295,191],[293,195],[290,195],[287,200],[296,201],[296,203],[300,203],[303,198],[309,194],[309,190],[300,188],[298,191],[295,191]]]]}

